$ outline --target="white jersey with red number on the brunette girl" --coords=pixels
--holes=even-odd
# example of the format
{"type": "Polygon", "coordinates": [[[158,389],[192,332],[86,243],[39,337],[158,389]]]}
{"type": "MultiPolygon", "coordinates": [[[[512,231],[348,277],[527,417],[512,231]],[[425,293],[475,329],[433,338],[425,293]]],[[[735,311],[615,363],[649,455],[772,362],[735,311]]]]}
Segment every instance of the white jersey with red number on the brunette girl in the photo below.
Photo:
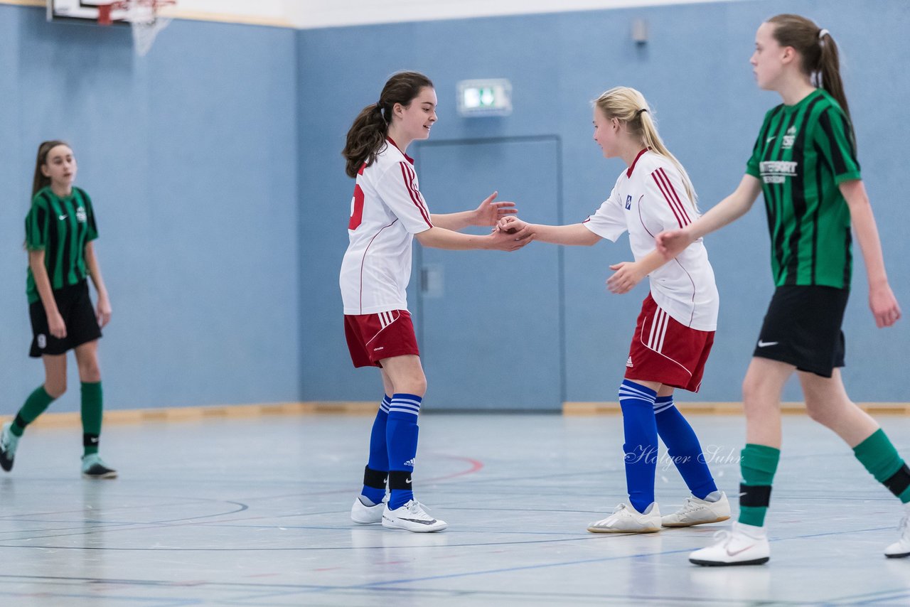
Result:
{"type": "Polygon", "coordinates": [[[408,309],[411,242],[433,224],[414,161],[391,139],[372,165],[360,167],[350,209],[339,277],[344,313],[408,309]]]}

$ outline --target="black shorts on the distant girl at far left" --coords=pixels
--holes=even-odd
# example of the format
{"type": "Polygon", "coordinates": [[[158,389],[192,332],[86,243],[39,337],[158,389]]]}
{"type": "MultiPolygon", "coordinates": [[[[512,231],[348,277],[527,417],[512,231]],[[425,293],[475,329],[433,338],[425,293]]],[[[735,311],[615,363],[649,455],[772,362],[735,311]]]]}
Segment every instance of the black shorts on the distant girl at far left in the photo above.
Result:
{"type": "Polygon", "coordinates": [[[35,359],[45,354],[66,354],[66,350],[101,337],[101,328],[98,327],[92,299],[88,297],[87,280],[56,289],[54,299],[66,325],[66,338],[56,339],[50,334],[47,329],[45,306],[40,299],[30,304],[28,315],[32,318],[33,337],[32,349],[28,356],[35,359]]]}

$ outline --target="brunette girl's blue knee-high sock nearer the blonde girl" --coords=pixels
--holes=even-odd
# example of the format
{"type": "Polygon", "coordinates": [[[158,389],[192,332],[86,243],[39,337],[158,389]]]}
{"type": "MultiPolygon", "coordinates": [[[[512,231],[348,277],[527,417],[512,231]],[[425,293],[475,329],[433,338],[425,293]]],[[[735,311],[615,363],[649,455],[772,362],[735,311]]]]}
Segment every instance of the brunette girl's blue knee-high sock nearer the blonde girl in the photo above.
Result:
{"type": "Polygon", "coordinates": [[[386,442],[389,445],[389,510],[395,510],[414,499],[410,473],[417,457],[417,417],[420,414],[419,396],[395,394],[389,405],[386,423],[386,442]]]}

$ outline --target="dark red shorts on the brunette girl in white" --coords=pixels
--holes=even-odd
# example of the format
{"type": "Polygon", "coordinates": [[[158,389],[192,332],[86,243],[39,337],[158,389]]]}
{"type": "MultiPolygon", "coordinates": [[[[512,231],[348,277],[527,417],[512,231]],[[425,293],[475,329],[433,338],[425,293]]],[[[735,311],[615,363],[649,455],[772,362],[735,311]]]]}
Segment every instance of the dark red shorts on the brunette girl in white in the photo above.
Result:
{"type": "Polygon", "coordinates": [[[381,367],[379,360],[416,354],[417,337],[406,309],[376,314],[345,314],[344,334],[355,367],[381,367]]]}

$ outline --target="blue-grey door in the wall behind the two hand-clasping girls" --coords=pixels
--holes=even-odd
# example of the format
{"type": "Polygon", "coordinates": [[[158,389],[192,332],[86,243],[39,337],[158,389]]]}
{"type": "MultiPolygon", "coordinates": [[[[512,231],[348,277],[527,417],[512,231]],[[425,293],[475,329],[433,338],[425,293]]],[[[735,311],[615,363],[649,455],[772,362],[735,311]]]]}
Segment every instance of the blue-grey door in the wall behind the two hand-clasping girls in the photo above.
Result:
{"type": "MultiPolygon", "coordinates": [[[[494,189],[533,223],[561,220],[556,137],[421,143],[420,190],[432,213],[474,208],[494,189]]],[[[489,228],[466,231],[484,233],[489,228]]],[[[411,301],[432,409],[560,410],[561,250],[420,248],[411,301]]]]}

